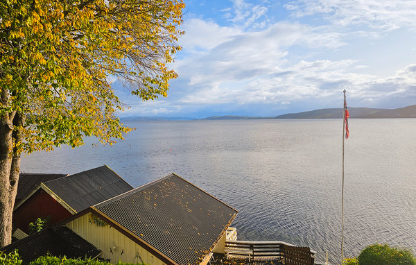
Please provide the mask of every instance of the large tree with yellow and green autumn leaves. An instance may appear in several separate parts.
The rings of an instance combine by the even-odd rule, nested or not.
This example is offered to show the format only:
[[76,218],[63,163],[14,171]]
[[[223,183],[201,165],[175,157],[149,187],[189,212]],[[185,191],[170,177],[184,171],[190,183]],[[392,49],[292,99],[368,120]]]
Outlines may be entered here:
[[10,243],[21,153],[103,144],[131,130],[109,78],[166,96],[182,0],[0,1],[0,247]]

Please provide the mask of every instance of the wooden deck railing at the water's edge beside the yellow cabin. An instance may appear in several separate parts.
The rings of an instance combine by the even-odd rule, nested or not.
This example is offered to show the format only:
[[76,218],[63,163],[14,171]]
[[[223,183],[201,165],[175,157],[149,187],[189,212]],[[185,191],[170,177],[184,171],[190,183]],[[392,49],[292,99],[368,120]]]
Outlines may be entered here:
[[313,265],[315,251],[281,241],[225,241],[225,255],[251,259],[277,259],[285,265]]

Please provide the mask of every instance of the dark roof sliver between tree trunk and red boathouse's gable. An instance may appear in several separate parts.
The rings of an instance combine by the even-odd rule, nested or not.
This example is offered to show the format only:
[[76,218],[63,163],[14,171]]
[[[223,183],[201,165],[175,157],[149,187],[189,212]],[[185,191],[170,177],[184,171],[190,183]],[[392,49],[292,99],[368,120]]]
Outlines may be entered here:
[[33,189],[40,185],[40,182],[55,180],[64,176],[67,176],[67,174],[20,173],[15,204],[26,198]]

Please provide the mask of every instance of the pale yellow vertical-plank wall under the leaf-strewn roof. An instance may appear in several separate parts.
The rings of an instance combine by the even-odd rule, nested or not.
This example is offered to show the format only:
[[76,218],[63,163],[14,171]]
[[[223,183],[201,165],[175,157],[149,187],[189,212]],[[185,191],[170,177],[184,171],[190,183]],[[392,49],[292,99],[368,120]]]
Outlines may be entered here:
[[[94,223],[92,214],[80,216],[80,218],[67,223],[67,227],[103,251],[100,257],[110,259],[112,264],[121,261],[166,265],[147,250],[141,248],[137,243],[125,237],[124,234],[110,227],[110,225],[100,226]],[[122,252],[123,254],[121,254]]]

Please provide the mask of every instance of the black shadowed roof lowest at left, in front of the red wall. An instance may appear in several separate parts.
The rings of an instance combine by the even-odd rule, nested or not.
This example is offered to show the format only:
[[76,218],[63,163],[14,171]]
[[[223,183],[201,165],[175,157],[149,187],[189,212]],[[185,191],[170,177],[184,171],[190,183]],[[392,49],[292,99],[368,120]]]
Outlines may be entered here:
[[65,255],[69,258],[96,257],[101,253],[67,227],[46,228],[1,248],[0,252],[10,253],[15,249],[23,260],[22,264],[29,264],[47,253],[58,257]]

